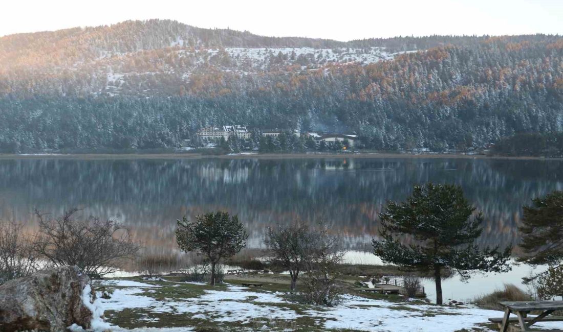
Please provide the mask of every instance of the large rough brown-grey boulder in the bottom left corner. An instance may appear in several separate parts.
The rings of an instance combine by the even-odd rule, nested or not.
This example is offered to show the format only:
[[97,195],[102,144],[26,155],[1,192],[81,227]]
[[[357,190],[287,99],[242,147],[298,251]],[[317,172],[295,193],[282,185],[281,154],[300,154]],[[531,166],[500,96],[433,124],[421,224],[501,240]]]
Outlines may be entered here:
[[8,281],[0,286],[0,331],[66,331],[73,324],[90,328],[92,311],[82,301],[89,282],[77,266]]

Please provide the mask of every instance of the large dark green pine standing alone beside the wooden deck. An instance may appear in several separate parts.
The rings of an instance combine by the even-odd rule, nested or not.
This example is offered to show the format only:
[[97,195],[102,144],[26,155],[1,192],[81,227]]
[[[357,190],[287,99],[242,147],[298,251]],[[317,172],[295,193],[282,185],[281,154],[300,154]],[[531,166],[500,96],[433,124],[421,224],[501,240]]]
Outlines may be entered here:
[[[390,201],[382,212],[381,240],[373,239],[376,256],[410,271],[432,274],[436,282],[436,303],[442,304],[441,276],[457,272],[462,280],[473,271],[502,272],[511,247],[499,251],[480,249],[473,242],[481,235],[482,216],[467,202],[461,187],[447,184],[415,186],[403,203]],[[409,241],[405,244],[404,240]]]

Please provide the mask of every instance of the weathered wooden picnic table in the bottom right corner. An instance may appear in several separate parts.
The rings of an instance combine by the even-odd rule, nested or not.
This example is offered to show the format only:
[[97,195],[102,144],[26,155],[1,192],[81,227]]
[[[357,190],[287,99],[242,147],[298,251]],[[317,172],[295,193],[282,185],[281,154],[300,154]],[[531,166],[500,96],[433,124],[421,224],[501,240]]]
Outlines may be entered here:
[[[504,317],[501,324],[501,332],[507,332],[508,326],[512,322],[518,322],[520,331],[530,331],[530,326],[535,323],[545,321],[563,321],[563,317],[549,317],[547,315],[556,310],[563,310],[563,301],[523,301],[523,302],[499,302],[504,309]],[[531,311],[540,311],[537,317],[526,317]],[[517,321],[510,319],[513,313],[517,317]],[[553,332],[563,330],[551,330]]]

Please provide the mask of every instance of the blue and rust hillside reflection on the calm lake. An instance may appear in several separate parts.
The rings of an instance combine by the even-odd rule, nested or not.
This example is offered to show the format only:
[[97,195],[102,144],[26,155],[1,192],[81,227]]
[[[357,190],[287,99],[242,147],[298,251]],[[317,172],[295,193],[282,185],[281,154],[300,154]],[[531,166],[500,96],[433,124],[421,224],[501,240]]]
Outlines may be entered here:
[[265,226],[327,222],[350,247],[369,248],[377,213],[413,184],[462,185],[485,213],[482,244],[517,238],[520,206],[563,188],[561,161],[356,160],[2,160],[0,215],[28,220],[34,207],[72,206],[132,225],[147,245],[173,247],[175,220],[209,210],[238,213],[251,245]]

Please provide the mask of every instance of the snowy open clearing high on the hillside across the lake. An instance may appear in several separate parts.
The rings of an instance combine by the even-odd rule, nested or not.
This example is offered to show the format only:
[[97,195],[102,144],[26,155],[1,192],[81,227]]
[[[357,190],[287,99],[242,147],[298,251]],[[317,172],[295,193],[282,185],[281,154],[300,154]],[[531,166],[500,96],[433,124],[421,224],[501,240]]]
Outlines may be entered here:
[[[128,66],[138,56],[135,53],[104,52],[98,59],[104,65],[97,76],[106,77],[106,84],[100,87],[115,95],[122,91],[126,80],[137,78],[142,82],[151,79],[153,75],[172,76],[178,83],[189,84],[194,72],[230,72],[248,75],[261,72],[294,72],[295,70],[318,70],[329,65],[346,65],[357,63],[368,65],[383,60],[392,60],[397,54],[416,52],[387,52],[383,47],[368,48],[311,48],[311,47],[283,47],[283,48],[224,48],[224,49],[177,49],[167,48],[161,51],[159,58],[151,58],[146,69],[138,69],[138,65]],[[83,66],[77,65],[75,70]],[[132,69],[132,70],[131,70]]]

